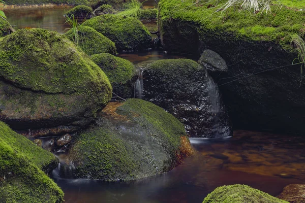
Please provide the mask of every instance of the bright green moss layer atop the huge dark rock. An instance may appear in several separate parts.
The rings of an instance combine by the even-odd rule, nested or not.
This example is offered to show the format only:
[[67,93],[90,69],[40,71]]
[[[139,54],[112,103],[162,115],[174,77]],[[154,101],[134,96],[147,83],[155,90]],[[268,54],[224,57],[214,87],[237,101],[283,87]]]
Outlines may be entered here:
[[160,23],[172,20],[189,22],[197,26],[201,36],[214,36],[226,41],[272,41],[280,43],[287,50],[292,49],[290,36],[305,28],[305,13],[285,6],[272,5],[271,12],[267,14],[239,11],[238,8],[229,8],[223,13],[217,12],[219,5],[223,3],[224,0],[218,4],[213,0],[196,6],[191,0],[161,0]]

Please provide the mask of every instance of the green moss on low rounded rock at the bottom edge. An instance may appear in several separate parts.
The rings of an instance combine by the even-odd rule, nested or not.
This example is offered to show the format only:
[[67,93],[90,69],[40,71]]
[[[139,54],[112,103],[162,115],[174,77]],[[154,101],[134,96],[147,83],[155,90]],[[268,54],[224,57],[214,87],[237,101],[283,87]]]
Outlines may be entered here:
[[216,188],[204,198],[203,203],[287,203],[247,185],[229,185]]

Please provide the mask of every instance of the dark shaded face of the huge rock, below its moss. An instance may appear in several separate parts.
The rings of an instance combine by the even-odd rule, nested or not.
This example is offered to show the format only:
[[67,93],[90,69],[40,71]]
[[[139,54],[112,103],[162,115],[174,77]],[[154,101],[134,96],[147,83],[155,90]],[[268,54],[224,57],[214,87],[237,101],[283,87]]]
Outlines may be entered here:
[[272,42],[232,41],[230,35],[219,39],[192,22],[161,21],[160,26],[166,51],[199,57],[209,49],[224,59],[227,71],[217,73],[210,63],[209,72],[234,128],[305,132],[305,83],[300,82],[300,65],[291,65],[296,54]]

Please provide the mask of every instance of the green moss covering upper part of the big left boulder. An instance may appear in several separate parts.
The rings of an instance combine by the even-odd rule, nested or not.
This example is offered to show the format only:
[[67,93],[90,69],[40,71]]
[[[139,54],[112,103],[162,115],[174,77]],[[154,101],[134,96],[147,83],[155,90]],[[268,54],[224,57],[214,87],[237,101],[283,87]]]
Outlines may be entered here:
[[0,42],[0,50],[0,74],[18,87],[52,94],[111,91],[103,71],[57,32],[20,29]]

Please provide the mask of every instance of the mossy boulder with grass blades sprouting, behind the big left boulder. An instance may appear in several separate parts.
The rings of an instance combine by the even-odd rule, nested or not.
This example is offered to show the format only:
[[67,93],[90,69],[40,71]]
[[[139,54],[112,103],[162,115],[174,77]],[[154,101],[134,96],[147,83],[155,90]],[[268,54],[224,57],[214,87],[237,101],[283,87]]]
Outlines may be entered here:
[[[75,36],[72,30],[65,33],[69,40],[74,41]],[[87,54],[110,53],[116,54],[115,44],[107,37],[92,27],[79,26],[78,27],[78,46]]]

